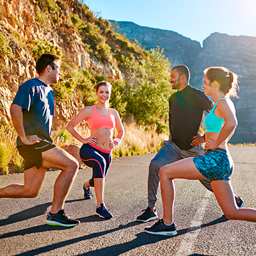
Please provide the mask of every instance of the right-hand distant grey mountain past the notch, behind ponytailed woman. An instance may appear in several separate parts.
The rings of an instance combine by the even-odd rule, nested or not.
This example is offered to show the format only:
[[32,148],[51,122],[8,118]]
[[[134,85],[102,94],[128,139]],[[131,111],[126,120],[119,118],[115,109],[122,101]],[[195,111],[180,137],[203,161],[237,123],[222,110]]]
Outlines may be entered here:
[[239,76],[239,99],[233,99],[239,125],[230,142],[256,141],[256,38],[214,33],[204,40],[191,72],[191,84],[202,86],[202,71],[211,66],[224,66]]

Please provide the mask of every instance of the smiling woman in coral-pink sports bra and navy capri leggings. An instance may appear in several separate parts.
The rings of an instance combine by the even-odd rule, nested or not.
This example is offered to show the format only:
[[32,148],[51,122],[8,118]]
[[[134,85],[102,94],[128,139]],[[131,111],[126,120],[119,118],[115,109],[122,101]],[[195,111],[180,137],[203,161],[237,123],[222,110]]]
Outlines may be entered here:
[[[80,157],[84,164],[93,168],[92,179],[84,183],[84,198],[93,197],[90,187],[95,188],[97,198],[96,214],[100,218],[110,219],[112,214],[104,205],[104,183],[111,165],[112,150],[124,137],[124,126],[122,125],[118,112],[108,107],[111,95],[111,84],[101,81],[97,84],[96,95],[98,102],[94,106],[82,109],[67,125],[67,130],[83,143],[80,149]],[[84,138],[76,130],[76,126],[83,120],[87,121],[91,131],[90,137]],[[113,130],[116,128],[118,134],[113,140]]]

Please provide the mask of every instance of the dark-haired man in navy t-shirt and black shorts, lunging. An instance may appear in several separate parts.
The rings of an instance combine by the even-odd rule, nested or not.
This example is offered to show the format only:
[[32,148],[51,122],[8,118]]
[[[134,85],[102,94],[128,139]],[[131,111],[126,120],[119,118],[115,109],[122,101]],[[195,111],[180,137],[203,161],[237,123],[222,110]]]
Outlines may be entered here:
[[38,78],[21,84],[10,108],[17,131],[17,148],[25,159],[24,185],[0,188],[0,198],[33,198],[38,195],[46,169],[61,170],[54,184],[51,212],[46,224],[73,227],[79,224],[63,210],[65,199],[78,170],[78,163],[65,150],[52,143],[54,100],[51,84],[58,83],[60,57],[42,54],[36,61]]

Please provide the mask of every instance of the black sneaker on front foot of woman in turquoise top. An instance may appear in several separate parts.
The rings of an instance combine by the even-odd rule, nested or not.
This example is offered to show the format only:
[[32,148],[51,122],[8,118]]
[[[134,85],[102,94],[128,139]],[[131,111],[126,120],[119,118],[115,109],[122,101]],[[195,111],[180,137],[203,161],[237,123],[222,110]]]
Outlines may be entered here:
[[157,221],[152,227],[145,228],[145,231],[153,235],[176,236],[177,231],[174,223],[170,226],[164,224],[163,220]]

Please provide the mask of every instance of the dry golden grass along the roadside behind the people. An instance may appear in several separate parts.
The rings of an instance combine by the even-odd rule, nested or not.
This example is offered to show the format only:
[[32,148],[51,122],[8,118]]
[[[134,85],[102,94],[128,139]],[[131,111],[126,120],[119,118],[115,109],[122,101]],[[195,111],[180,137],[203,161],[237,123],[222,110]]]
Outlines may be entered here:
[[[125,136],[122,143],[113,150],[113,157],[157,152],[163,146],[163,141],[168,140],[166,134],[157,134],[156,128],[146,129],[132,123],[124,124],[124,129]],[[86,125],[79,125],[77,130],[84,137],[90,136],[90,131]],[[114,135],[116,136],[116,131]],[[0,126],[0,175],[24,172],[24,160],[16,148],[16,138],[17,133],[12,125]],[[52,131],[52,140],[59,147],[70,144],[76,144],[80,147],[82,145],[65,129]]]

